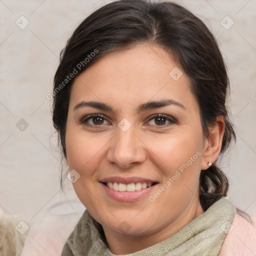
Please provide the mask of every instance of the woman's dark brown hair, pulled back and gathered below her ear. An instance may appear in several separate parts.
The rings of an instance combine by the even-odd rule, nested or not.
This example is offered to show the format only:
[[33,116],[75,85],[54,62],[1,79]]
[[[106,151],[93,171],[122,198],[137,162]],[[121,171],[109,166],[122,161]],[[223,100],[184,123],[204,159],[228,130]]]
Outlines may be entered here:
[[[216,117],[223,116],[222,154],[235,139],[235,133],[226,108],[227,71],[214,36],[199,18],[176,3],[120,0],[100,7],[85,18],[60,53],[54,76],[52,120],[63,155],[66,156],[65,127],[70,89],[75,78],[70,79],[70,74],[77,75],[110,51],[138,43],[162,47],[180,63],[190,78],[191,90],[199,104],[205,136]],[[201,170],[200,203],[203,210],[226,196],[227,190],[227,178],[216,163]]]

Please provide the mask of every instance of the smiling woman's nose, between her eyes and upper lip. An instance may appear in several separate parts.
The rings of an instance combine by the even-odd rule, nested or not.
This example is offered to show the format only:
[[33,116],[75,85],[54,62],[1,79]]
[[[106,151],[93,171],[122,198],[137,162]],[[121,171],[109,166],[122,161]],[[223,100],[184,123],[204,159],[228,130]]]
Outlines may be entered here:
[[127,169],[145,160],[144,144],[134,131],[132,126],[126,131],[116,127],[116,134],[111,139],[107,151],[108,162]]

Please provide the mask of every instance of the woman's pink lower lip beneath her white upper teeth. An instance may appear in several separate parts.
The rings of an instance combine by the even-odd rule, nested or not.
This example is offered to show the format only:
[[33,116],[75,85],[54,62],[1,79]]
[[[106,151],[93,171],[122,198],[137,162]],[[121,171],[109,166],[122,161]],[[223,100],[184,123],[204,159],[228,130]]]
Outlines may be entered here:
[[142,188],[140,190],[135,190],[132,192],[127,192],[127,191],[116,191],[112,188],[109,188],[108,186],[104,185],[102,182],[100,182],[103,188],[105,189],[105,192],[107,193],[108,196],[111,198],[117,200],[117,201],[136,201],[144,196],[146,196],[156,184],[149,186],[147,188]]

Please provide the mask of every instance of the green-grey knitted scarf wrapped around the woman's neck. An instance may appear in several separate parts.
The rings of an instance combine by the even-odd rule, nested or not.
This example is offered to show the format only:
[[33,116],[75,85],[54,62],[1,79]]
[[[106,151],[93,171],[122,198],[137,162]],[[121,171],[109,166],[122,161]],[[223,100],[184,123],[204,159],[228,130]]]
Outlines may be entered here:
[[[216,256],[231,226],[235,211],[230,200],[222,197],[169,238],[127,256]],[[87,210],[70,234],[61,253],[61,256],[85,255],[115,256],[102,240],[97,222]]]

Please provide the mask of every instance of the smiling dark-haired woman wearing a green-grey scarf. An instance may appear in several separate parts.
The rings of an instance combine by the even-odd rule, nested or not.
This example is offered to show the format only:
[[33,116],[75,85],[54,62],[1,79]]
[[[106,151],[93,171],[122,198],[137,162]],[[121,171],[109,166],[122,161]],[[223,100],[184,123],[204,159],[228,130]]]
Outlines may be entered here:
[[217,163],[235,138],[228,89],[214,36],[175,3],[121,0],[82,21],[52,93],[86,207],[61,255],[254,255]]

